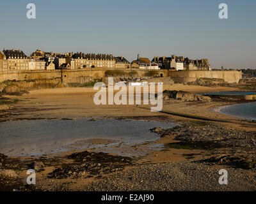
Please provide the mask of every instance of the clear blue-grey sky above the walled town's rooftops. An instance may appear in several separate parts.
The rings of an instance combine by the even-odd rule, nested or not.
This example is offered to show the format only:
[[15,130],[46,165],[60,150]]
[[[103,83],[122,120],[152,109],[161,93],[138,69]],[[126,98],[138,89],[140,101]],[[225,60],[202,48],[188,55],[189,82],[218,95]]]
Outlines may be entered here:
[[[36,19],[26,5],[36,4]],[[218,5],[228,5],[228,19]],[[212,68],[256,67],[255,0],[1,0],[0,49],[209,58]]]

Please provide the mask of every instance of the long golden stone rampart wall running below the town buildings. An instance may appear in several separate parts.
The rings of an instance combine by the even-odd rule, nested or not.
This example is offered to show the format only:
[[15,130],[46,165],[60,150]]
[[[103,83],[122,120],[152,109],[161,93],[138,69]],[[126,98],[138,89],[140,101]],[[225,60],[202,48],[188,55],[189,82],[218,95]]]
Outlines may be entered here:
[[[108,70],[108,71],[107,71]],[[136,75],[134,77],[179,77],[182,82],[193,82],[197,78],[223,78],[228,83],[238,83],[242,78],[241,71],[170,71],[162,70],[140,70],[140,69],[108,69],[108,68],[85,68],[85,69],[64,69],[64,70],[44,70],[44,71],[0,71],[0,82],[6,80],[42,80],[60,78],[63,84],[68,82],[88,81],[88,77],[105,79],[106,77],[124,77]],[[84,78],[85,77],[85,78]]]

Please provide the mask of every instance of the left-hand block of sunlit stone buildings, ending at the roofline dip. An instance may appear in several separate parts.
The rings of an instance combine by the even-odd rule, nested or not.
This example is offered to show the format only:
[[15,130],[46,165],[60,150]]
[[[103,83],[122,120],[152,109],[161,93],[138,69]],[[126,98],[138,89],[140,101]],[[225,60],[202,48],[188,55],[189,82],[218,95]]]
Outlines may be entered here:
[[55,54],[36,50],[29,57],[22,50],[3,50],[0,52],[0,71],[52,70],[83,68],[130,68],[125,57],[108,54],[65,53]]

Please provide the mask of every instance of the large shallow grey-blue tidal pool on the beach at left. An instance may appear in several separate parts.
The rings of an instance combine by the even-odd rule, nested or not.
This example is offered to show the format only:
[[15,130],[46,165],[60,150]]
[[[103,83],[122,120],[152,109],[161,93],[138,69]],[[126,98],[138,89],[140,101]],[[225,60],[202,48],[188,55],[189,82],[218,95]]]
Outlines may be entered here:
[[[40,156],[67,150],[96,149],[138,155],[131,147],[159,136],[149,129],[173,123],[144,120],[19,120],[0,123],[0,152],[8,156]],[[157,145],[149,149],[159,148]],[[141,149],[147,154],[147,148]],[[143,155],[143,154],[140,155]]]

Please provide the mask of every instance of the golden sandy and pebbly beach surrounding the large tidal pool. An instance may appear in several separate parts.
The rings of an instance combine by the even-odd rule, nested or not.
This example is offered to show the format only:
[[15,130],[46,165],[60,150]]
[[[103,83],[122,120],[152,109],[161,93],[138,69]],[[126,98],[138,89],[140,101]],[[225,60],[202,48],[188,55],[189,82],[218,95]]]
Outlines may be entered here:
[[[237,91],[234,87],[183,84],[168,85],[163,88],[166,89],[193,93]],[[19,191],[253,191],[256,189],[256,171],[253,168],[255,123],[213,111],[219,106],[236,104],[236,101],[213,100],[202,103],[168,99],[163,102],[162,112],[150,112],[150,105],[97,106],[93,103],[95,92],[92,87],[77,87],[39,89],[29,91],[29,94],[22,96],[6,96],[19,101],[2,108],[0,120],[1,122],[143,120],[169,122],[179,128],[173,129],[173,126],[170,126],[160,129],[155,132],[156,140],[134,144],[126,149],[125,145],[117,144],[119,147],[116,148],[123,152],[122,156],[115,153],[115,147],[111,147],[114,153],[110,154],[100,153],[100,150],[104,151],[104,147],[100,147],[102,149],[71,148],[40,156],[24,155],[2,159],[3,166],[15,173],[15,177],[10,176],[10,181],[13,178],[22,178],[18,179],[19,181],[16,179],[13,183],[5,183],[4,186],[2,185],[3,189],[11,191],[13,189]],[[191,137],[188,137],[189,135]],[[231,142],[226,142],[227,140]],[[94,138],[89,142],[92,146],[95,144],[108,146],[109,143],[113,143],[102,138]],[[150,145],[161,148],[146,148]],[[138,155],[129,156],[128,153],[131,151],[138,152]],[[38,168],[35,186],[24,184],[27,166]],[[220,177],[218,170],[222,168],[230,173],[229,186],[218,184]],[[170,178],[173,182],[168,180]],[[6,180],[1,182],[3,184]]]

